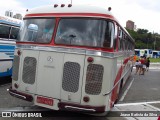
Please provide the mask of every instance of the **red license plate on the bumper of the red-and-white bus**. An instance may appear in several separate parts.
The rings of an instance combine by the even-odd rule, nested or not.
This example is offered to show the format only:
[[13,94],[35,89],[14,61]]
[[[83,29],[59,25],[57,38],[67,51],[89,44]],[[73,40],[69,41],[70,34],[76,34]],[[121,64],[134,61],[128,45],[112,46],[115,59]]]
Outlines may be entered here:
[[53,99],[37,96],[37,103],[53,106]]

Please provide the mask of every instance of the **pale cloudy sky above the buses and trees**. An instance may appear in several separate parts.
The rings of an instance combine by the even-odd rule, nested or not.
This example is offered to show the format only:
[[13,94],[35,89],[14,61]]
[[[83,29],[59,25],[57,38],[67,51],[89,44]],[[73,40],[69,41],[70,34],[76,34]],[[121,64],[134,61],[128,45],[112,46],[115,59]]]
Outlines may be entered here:
[[[3,0],[0,15],[4,15],[6,10],[25,15],[26,9],[61,3],[68,4],[71,0]],[[127,20],[132,20],[137,28],[160,34],[160,0],[72,0],[72,4],[97,5],[106,9],[111,7],[112,14],[123,27]]]

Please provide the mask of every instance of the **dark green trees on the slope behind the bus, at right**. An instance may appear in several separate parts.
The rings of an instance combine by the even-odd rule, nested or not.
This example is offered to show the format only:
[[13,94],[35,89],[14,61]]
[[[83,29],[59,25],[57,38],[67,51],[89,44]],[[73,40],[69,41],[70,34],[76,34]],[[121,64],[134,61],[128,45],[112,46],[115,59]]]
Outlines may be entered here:
[[160,50],[160,35],[148,32],[147,29],[137,31],[127,29],[129,34],[135,39],[135,49],[156,49]]

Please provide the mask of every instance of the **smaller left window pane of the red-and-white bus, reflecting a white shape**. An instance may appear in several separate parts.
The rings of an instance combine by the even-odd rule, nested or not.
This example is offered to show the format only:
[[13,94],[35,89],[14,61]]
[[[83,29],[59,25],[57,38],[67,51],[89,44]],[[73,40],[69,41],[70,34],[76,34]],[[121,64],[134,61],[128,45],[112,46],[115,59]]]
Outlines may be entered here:
[[49,43],[54,30],[54,18],[25,19],[20,30],[19,41]]

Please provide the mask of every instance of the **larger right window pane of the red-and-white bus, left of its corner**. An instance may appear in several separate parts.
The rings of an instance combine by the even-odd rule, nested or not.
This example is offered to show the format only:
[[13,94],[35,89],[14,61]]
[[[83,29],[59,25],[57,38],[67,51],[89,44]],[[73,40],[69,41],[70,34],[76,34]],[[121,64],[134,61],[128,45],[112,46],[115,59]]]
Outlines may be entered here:
[[62,18],[55,43],[64,45],[112,47],[114,25],[103,19]]

